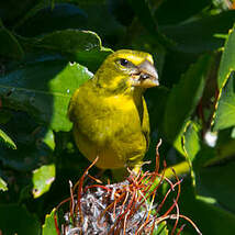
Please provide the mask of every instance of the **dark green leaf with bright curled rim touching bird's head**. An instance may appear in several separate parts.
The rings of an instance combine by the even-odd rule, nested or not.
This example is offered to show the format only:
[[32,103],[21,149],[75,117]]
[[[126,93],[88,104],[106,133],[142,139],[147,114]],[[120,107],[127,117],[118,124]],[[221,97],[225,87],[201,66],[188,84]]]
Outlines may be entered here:
[[93,71],[96,71],[104,58],[112,53],[111,49],[102,46],[100,37],[91,31],[71,29],[55,31],[40,38],[35,38],[35,42],[26,40],[24,43],[32,44],[33,47],[41,51],[46,49],[66,55],[70,60],[92,68]]

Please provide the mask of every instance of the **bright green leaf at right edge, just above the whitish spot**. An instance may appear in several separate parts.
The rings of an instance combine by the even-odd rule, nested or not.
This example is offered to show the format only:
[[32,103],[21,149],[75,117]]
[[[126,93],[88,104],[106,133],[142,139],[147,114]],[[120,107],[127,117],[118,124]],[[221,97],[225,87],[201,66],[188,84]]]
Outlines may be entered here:
[[[235,44],[234,44],[235,45]],[[232,72],[222,88],[214,116],[214,131],[235,126],[235,72]]]

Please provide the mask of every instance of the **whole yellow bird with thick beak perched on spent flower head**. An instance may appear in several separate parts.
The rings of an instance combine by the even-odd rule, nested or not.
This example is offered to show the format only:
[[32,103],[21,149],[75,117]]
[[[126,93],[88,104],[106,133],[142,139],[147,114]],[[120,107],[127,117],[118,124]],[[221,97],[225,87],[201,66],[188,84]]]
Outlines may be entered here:
[[68,116],[79,150],[102,169],[137,171],[149,143],[146,88],[158,86],[152,55],[121,49],[71,97]]

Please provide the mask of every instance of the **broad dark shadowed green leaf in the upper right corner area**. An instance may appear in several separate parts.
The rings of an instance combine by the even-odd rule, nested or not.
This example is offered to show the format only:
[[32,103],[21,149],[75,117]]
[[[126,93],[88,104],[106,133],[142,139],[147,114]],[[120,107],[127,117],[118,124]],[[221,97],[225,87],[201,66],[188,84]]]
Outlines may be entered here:
[[174,41],[175,49],[201,54],[224,45],[221,34],[227,34],[235,21],[235,11],[226,11],[178,25],[161,26],[160,32]]

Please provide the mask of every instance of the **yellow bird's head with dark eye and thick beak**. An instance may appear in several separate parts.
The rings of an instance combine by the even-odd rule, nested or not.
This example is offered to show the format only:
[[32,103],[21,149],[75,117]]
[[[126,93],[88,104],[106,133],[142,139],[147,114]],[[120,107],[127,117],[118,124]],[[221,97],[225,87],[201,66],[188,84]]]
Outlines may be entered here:
[[131,49],[121,49],[109,55],[96,77],[101,87],[112,92],[159,85],[152,55]]

